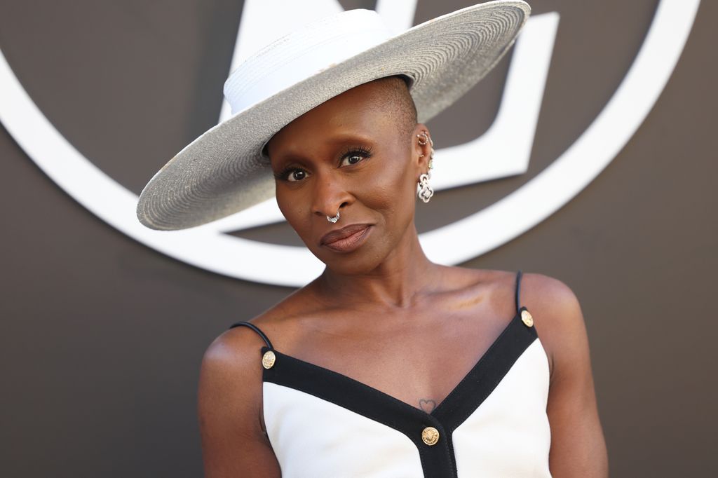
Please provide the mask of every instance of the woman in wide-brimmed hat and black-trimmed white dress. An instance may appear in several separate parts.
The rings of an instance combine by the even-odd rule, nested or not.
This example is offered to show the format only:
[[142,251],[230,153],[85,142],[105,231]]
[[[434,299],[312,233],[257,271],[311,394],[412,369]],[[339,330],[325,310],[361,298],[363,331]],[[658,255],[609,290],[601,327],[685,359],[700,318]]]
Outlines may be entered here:
[[[286,80],[250,59],[247,71],[284,83],[264,91],[264,103],[250,101],[258,105],[254,113],[234,108],[241,111],[234,126],[205,133],[204,145],[195,141],[183,150],[143,191],[138,211],[146,225],[185,228],[261,200],[257,171],[264,167],[289,225],[326,265],[264,314],[233,324],[205,352],[198,397],[205,476],[607,475],[586,331],[572,291],[538,273],[439,266],[424,255],[414,225],[416,196],[432,196],[434,150],[425,118],[485,75],[526,14],[520,1],[463,9],[415,27],[409,39],[344,52],[349,60],[319,73],[312,67],[303,80]],[[368,32],[358,23],[370,15],[346,12],[304,29],[301,42],[290,36],[258,55],[281,65],[276,50],[289,44],[286,60],[294,60],[297,44],[331,43],[322,29]],[[444,55],[440,72],[411,69],[421,57],[408,54],[406,42],[440,49],[437,32],[455,31],[444,47],[465,44],[461,35],[470,38],[502,15],[515,17],[514,24],[503,22],[503,34],[482,37],[491,51],[467,47]],[[317,38],[307,37],[314,32]],[[298,57],[300,67],[311,61]],[[405,63],[396,67],[399,57]],[[342,75],[347,61],[364,67],[350,65]],[[380,67],[348,80],[371,65]],[[325,71],[333,73],[317,80]],[[233,72],[225,85],[230,100],[266,87],[259,79],[248,85],[241,74]],[[307,81],[304,90],[297,86]],[[243,93],[233,95],[238,84]],[[299,93],[313,94],[317,85],[325,96],[297,105]],[[252,114],[274,124],[248,131]],[[249,146],[240,154],[233,141],[252,144],[268,161],[238,159]],[[227,170],[216,166],[218,156],[238,164],[231,181],[217,179]],[[195,161],[215,166],[192,172]],[[200,193],[176,199],[197,184]],[[164,208],[153,211],[152,195]]]

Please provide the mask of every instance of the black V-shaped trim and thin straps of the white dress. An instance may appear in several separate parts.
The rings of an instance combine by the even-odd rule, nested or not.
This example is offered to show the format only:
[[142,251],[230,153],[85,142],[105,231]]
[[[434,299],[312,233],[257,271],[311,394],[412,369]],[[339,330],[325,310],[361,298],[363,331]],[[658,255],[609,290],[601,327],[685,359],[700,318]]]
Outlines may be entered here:
[[[456,478],[457,464],[452,444],[454,430],[481,406],[516,360],[538,338],[536,328],[526,326],[521,320],[521,311],[527,310],[525,306],[520,306],[521,275],[521,271],[516,274],[516,315],[432,413],[426,413],[347,375],[278,352],[264,332],[254,324],[236,322],[230,328],[240,325],[250,327],[266,343],[261,354],[264,355],[268,350],[274,352],[274,365],[262,372],[264,382],[308,393],[394,428],[416,445],[425,477]],[[433,426],[439,431],[439,441],[433,446],[421,440],[421,431],[427,426]]]

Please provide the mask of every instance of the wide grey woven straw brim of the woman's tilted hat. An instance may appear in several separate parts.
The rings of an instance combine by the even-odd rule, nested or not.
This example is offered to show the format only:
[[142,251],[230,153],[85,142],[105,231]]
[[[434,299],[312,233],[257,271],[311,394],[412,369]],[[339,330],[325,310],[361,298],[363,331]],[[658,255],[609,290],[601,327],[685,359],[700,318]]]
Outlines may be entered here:
[[378,78],[411,78],[418,120],[429,121],[480,81],[525,24],[523,1],[490,1],[419,24],[281,90],[210,128],[144,187],[137,217],[148,228],[203,225],[274,196],[261,149],[286,124],[346,90]]

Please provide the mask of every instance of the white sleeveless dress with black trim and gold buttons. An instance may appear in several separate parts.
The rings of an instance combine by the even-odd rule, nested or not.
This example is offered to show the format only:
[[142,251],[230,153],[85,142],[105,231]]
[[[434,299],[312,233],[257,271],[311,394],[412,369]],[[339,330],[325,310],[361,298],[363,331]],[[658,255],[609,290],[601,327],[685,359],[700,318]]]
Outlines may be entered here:
[[431,413],[233,324],[266,342],[264,422],[282,477],[551,477],[549,362],[520,282],[516,316]]

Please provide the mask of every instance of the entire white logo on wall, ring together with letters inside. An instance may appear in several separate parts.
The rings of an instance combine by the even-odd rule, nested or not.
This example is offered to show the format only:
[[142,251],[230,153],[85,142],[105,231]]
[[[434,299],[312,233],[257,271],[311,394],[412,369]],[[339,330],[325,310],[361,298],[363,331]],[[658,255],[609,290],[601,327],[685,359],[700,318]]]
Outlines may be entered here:
[[[342,9],[337,0],[283,0],[284,14],[276,16],[276,3],[244,2],[233,65],[297,24]],[[549,217],[597,177],[656,103],[681,56],[699,4],[700,0],[661,0],[628,74],[582,136],[510,195],[462,220],[421,234],[421,245],[429,258],[456,264],[480,256]],[[379,0],[376,6],[396,32],[411,26],[415,9],[416,0]],[[437,151],[441,161],[434,169],[434,189],[526,172],[558,24],[556,13],[529,19],[516,42],[493,125],[477,139]],[[274,29],[269,31],[267,25]],[[227,115],[225,105],[222,118]],[[322,263],[306,248],[227,234],[282,220],[274,200],[190,230],[144,228],[135,215],[136,195],[98,169],[52,126],[1,52],[0,121],[65,192],[114,228],[168,256],[226,276],[286,286],[303,285],[322,271]],[[475,162],[477,157],[497,156],[503,160]],[[467,171],[472,174],[467,175]],[[449,240],[452,247],[442,247]]]

